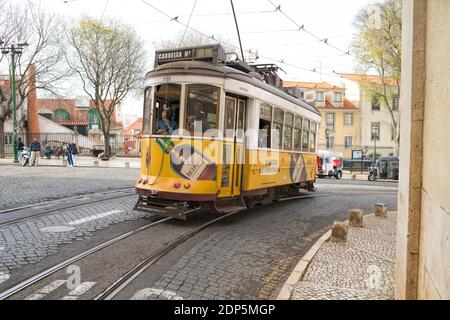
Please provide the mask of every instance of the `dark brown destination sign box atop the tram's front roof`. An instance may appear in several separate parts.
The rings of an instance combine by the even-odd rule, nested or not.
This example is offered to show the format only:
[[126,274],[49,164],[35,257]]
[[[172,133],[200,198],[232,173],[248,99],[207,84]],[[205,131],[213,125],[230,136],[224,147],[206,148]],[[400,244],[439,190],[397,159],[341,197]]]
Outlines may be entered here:
[[225,51],[219,44],[174,50],[158,50],[155,54],[155,67],[174,61],[192,60],[216,64],[219,61],[225,61]]

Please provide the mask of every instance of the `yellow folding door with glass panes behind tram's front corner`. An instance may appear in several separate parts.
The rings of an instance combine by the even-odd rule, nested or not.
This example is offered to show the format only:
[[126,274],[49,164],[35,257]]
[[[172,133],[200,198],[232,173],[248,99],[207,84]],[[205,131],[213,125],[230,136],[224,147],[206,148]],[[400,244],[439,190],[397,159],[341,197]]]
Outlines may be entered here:
[[226,97],[220,197],[241,194],[242,168],[245,159],[245,111],[245,100]]

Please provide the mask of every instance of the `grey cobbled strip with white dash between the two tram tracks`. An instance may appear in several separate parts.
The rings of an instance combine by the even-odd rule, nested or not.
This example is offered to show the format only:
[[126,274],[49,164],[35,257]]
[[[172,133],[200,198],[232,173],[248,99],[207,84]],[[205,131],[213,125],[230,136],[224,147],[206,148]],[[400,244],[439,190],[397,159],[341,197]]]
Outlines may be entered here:
[[[0,227],[0,273],[39,262],[57,253],[61,245],[87,240],[93,232],[112,224],[141,218],[142,213],[132,210],[135,202],[135,197],[108,200]],[[111,212],[113,213],[109,214]],[[101,215],[102,213],[107,214]],[[100,218],[96,219],[97,217]],[[42,230],[52,226],[70,226],[73,230],[68,232]]]

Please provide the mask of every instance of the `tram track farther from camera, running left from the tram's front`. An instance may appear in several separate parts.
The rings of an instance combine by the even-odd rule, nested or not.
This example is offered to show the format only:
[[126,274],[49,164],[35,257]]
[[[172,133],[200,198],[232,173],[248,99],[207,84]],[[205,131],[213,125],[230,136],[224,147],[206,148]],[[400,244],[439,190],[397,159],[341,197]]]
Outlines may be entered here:
[[11,219],[9,221],[5,221],[5,222],[0,222],[0,228],[8,226],[8,225],[12,225],[12,224],[16,224],[16,223],[20,223],[20,222],[25,222],[28,220],[32,220],[35,218],[39,218],[42,216],[45,216],[47,214],[50,213],[55,213],[55,212],[59,212],[59,211],[64,211],[67,209],[72,209],[72,208],[77,208],[77,207],[82,207],[82,206],[86,206],[86,205],[90,205],[90,204],[94,204],[94,203],[99,203],[99,202],[104,202],[104,201],[110,201],[110,200],[115,200],[115,199],[120,199],[120,198],[126,198],[126,197],[132,197],[132,196],[136,196],[136,194],[133,192],[127,193],[127,194],[122,194],[122,195],[118,195],[118,193],[120,192],[126,192],[126,191],[132,191],[134,190],[134,188],[124,188],[124,189],[116,189],[116,190],[111,190],[111,191],[104,191],[104,192],[96,192],[96,193],[89,193],[89,194],[85,194],[85,195],[79,195],[79,196],[75,196],[75,197],[71,197],[71,198],[64,198],[64,199],[58,199],[58,200],[52,200],[52,201],[45,201],[45,202],[39,202],[36,204],[32,204],[32,205],[26,205],[26,206],[21,206],[21,207],[16,207],[16,208],[10,208],[7,210],[2,210],[0,211],[0,215],[1,214],[13,214],[14,212],[19,212],[21,210],[27,210],[27,209],[39,209],[43,206],[51,206],[54,204],[58,204],[61,202],[70,202],[70,201],[74,201],[74,200],[78,200],[78,199],[83,199],[86,197],[93,197],[96,195],[109,195],[109,194],[114,194],[114,196],[111,197],[101,197],[99,199],[93,199],[93,200],[89,200],[89,201],[84,201],[84,202],[80,202],[80,203],[76,203],[76,204],[70,204],[70,205],[65,205],[65,206],[61,206],[61,207],[54,207],[51,209],[47,209],[47,210],[43,210],[43,211],[39,211],[36,213],[32,213],[30,215],[27,215],[25,217],[20,217],[17,219]]

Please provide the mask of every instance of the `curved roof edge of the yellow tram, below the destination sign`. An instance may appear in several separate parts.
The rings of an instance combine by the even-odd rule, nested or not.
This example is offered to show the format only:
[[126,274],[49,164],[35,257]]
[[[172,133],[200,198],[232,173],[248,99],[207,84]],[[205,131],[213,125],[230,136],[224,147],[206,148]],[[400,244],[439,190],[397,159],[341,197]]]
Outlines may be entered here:
[[286,99],[299,107],[305,108],[311,112],[320,115],[320,111],[306,102],[299,100],[281,89],[271,86],[263,81],[253,77],[251,74],[242,72],[235,68],[226,65],[211,64],[202,61],[176,61],[160,65],[148,72],[146,78],[153,78],[165,74],[183,74],[183,75],[200,75],[200,76],[212,76],[230,78],[247,82],[255,87],[268,91],[274,95],[277,95],[283,99]]

